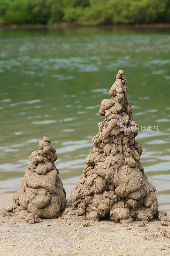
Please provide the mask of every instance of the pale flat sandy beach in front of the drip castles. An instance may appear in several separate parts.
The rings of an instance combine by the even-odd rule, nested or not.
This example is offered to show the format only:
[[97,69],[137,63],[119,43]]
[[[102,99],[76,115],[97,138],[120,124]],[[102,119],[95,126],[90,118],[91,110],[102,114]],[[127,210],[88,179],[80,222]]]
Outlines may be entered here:
[[[12,205],[11,195],[0,195],[0,209]],[[4,223],[3,223],[4,222]],[[159,220],[145,226],[114,221],[42,219],[29,224],[16,215],[0,217],[1,256],[91,255],[152,256],[170,254],[170,228]]]

